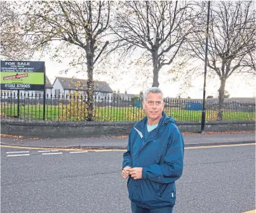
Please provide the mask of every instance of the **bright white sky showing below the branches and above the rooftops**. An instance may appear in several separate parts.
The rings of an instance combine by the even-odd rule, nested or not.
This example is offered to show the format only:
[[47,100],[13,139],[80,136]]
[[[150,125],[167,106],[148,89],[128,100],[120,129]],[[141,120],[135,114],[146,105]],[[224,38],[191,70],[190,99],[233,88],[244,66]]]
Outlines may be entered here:
[[[46,63],[46,75],[48,75],[51,83],[53,84],[55,77],[76,77],[77,79],[86,79],[87,72],[80,72],[76,74],[76,70],[73,69],[67,74],[60,74],[61,70],[65,70],[69,67],[68,63],[57,63],[56,61],[50,60],[47,56],[41,58],[41,61],[45,61]],[[64,60],[65,61],[65,60]],[[203,67],[202,67],[203,68]],[[106,67],[106,69],[108,69]],[[168,67],[165,67],[168,69]],[[141,90],[145,91],[146,87],[150,87],[152,84],[152,79],[149,79],[147,85],[142,85],[140,81],[140,77],[135,77],[135,70],[130,69],[128,70],[129,73],[126,74],[119,74],[118,81],[111,78],[111,76],[107,75],[93,75],[94,80],[98,81],[106,81],[111,86],[112,90],[120,91],[120,93],[127,93],[138,94]],[[109,72],[110,73],[110,72]],[[190,96],[191,98],[203,98],[203,76],[194,79],[192,85],[194,87],[190,88],[188,91],[187,89],[182,89],[183,82],[166,82],[166,79],[170,78],[170,76],[159,73],[159,88],[163,90],[163,93],[166,96],[175,98],[180,93],[182,93],[182,98],[187,98]],[[135,84],[133,86],[133,84]],[[231,97],[253,97],[255,96],[255,81],[248,80],[247,81],[241,77],[231,77],[227,80],[226,90],[229,91]],[[206,96],[213,95],[217,97],[218,93],[217,90],[219,89],[219,80],[215,79],[208,79],[206,82]]]

